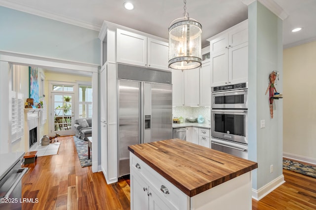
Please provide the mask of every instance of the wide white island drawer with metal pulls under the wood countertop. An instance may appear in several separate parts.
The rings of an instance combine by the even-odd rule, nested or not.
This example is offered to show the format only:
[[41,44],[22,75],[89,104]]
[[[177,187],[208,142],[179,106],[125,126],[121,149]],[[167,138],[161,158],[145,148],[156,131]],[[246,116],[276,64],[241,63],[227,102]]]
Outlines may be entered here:
[[[186,210],[189,208],[190,199],[186,194],[132,153],[130,153],[130,164],[131,173],[137,173],[144,178],[145,182],[148,180],[148,186],[170,209]],[[169,193],[163,193],[163,189],[168,190]]]

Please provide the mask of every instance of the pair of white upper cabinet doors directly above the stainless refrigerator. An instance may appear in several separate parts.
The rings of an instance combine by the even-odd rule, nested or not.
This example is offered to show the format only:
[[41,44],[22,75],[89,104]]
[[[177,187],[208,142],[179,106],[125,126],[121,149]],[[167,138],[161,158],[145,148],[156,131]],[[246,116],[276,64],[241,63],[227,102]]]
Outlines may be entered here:
[[169,47],[144,35],[117,29],[117,62],[168,70]]

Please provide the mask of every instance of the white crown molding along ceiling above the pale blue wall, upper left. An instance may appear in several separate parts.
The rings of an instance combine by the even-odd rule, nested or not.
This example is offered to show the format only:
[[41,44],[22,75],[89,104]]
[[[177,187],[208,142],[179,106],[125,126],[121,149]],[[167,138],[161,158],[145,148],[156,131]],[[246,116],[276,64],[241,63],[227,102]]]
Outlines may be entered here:
[[100,25],[90,24],[90,23],[87,23],[84,21],[80,21],[80,20],[76,20],[76,19],[73,19],[73,18],[70,18],[67,16],[63,16],[63,15],[60,15],[57,13],[39,10],[37,8],[31,7],[28,5],[24,5],[24,4],[8,2],[6,0],[0,0],[0,6],[4,6],[4,7],[18,10],[21,12],[26,12],[26,13],[37,15],[40,17],[56,20],[59,22],[68,23],[71,25],[79,26],[79,27],[90,29],[90,30],[97,31],[97,32],[99,32],[101,29]]

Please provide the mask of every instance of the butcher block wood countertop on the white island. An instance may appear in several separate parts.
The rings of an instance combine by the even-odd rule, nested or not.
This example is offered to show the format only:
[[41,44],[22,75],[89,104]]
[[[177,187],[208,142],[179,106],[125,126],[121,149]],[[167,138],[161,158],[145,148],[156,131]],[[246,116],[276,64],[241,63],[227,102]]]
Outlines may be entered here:
[[128,150],[189,197],[258,168],[258,164],[179,139],[128,146]]

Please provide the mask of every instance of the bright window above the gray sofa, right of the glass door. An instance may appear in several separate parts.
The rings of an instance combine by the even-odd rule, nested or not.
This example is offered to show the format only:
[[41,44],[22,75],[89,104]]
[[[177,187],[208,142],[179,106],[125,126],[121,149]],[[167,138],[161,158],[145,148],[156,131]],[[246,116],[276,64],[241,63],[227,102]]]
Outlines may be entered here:
[[79,85],[79,118],[92,117],[92,87]]

